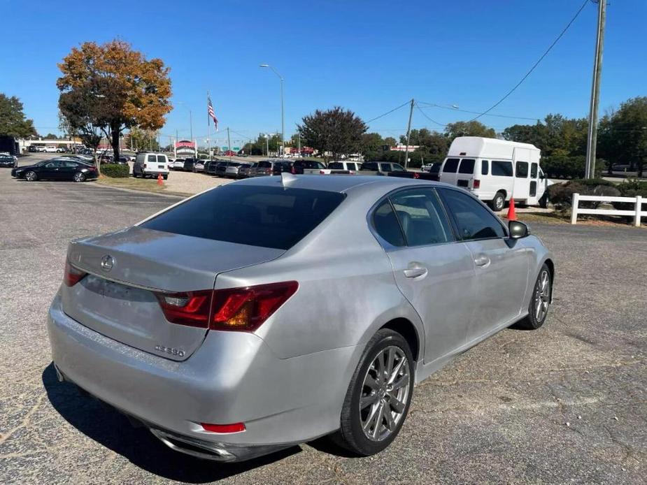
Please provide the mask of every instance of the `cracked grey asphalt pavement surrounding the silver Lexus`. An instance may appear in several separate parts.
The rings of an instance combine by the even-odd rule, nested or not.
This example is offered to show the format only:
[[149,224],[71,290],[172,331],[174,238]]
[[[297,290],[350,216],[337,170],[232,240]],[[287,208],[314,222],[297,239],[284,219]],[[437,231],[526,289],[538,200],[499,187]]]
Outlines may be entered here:
[[556,258],[546,324],[502,331],[417,386],[382,454],[349,458],[319,440],[221,465],[167,449],[57,382],[45,330],[69,240],[178,199],[9,172],[0,169],[0,483],[645,483],[644,229],[535,226]]

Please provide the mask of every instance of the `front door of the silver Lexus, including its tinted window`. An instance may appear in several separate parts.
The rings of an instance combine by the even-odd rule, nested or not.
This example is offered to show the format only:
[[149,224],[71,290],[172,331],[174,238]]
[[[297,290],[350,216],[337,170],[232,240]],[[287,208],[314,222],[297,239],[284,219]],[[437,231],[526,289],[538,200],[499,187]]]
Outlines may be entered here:
[[529,249],[509,240],[499,218],[469,194],[441,188],[456,233],[467,244],[476,271],[474,319],[467,341],[497,326],[512,324],[522,311],[528,282]]

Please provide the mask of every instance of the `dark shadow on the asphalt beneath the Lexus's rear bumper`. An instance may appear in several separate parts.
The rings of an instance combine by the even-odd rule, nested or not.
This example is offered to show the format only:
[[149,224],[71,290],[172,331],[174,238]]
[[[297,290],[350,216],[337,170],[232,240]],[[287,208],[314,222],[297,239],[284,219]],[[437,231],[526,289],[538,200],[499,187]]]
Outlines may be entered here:
[[173,451],[146,428],[134,428],[115,408],[86,396],[70,382],[59,382],[54,364],[43,370],[43,385],[54,409],[81,433],[160,477],[179,482],[213,482],[268,465],[301,451],[298,446],[242,463],[218,463]]

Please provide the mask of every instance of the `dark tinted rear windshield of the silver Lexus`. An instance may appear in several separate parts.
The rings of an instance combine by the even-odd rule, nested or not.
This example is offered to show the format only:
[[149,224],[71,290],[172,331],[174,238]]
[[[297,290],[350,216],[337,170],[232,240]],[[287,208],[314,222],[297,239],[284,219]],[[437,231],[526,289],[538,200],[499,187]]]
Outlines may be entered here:
[[341,203],[338,192],[229,184],[141,224],[146,229],[290,249]]

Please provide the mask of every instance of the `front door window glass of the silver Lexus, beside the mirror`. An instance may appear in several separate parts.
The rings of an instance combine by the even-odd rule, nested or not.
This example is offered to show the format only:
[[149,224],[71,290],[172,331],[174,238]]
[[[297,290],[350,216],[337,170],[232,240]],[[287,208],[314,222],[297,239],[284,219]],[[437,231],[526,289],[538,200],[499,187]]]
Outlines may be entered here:
[[457,190],[440,189],[443,201],[454,216],[462,240],[504,238],[506,233],[495,215],[471,196]]

